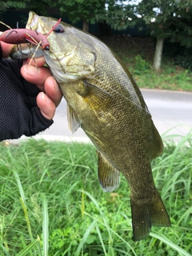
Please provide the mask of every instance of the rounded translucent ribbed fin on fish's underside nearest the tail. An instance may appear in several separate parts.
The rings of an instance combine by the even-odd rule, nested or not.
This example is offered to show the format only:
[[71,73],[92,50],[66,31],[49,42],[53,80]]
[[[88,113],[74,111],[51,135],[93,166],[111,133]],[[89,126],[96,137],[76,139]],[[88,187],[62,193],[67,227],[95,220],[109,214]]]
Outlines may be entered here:
[[98,180],[105,192],[112,192],[120,183],[119,171],[98,152]]

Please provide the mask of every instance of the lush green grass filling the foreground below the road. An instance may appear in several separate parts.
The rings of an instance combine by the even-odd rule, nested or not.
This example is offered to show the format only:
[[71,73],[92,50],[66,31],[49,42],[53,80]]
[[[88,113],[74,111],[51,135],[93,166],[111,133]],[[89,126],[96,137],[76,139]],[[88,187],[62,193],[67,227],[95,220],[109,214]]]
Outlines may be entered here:
[[154,226],[141,242],[132,241],[127,182],[122,177],[114,193],[102,191],[94,146],[0,144],[0,255],[190,256],[191,139],[175,146],[166,138],[164,154],[152,162],[172,226]]

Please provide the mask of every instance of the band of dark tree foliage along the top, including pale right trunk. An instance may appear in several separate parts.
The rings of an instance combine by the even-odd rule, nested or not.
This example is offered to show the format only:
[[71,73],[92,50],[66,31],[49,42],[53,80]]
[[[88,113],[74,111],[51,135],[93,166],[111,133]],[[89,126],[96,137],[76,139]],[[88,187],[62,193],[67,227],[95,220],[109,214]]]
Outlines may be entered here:
[[[177,42],[187,49],[192,46],[190,0],[22,0],[0,1],[1,12],[10,9],[34,10],[38,14],[57,13],[66,15],[71,22],[82,20],[83,29],[89,30],[89,23],[102,22],[116,30],[127,27],[144,28],[156,38],[154,70],[161,70],[164,39]],[[0,14],[1,14],[0,12]]]

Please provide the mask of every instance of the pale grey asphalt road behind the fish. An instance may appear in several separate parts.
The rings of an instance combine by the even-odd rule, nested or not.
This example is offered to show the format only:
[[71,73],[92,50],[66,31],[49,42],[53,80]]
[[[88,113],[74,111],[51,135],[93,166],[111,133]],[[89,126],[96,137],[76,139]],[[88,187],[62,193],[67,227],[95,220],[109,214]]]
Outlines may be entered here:
[[[169,90],[142,90],[146,105],[153,117],[154,124],[161,135],[185,135],[192,130],[192,93]],[[169,130],[169,132],[167,132]],[[88,138],[82,129],[71,134],[66,118],[66,102],[63,99],[54,117],[54,124],[36,138],[49,140],[80,140]]]

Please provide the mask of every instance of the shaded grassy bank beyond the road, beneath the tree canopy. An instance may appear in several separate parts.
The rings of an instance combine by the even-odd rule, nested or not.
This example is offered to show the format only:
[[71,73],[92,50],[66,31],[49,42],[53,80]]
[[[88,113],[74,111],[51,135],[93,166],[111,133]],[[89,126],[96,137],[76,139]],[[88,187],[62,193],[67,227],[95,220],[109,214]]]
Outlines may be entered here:
[[174,65],[174,59],[166,54],[162,58],[162,71],[154,72],[154,39],[111,36],[101,40],[118,54],[139,87],[192,91],[192,72]]

